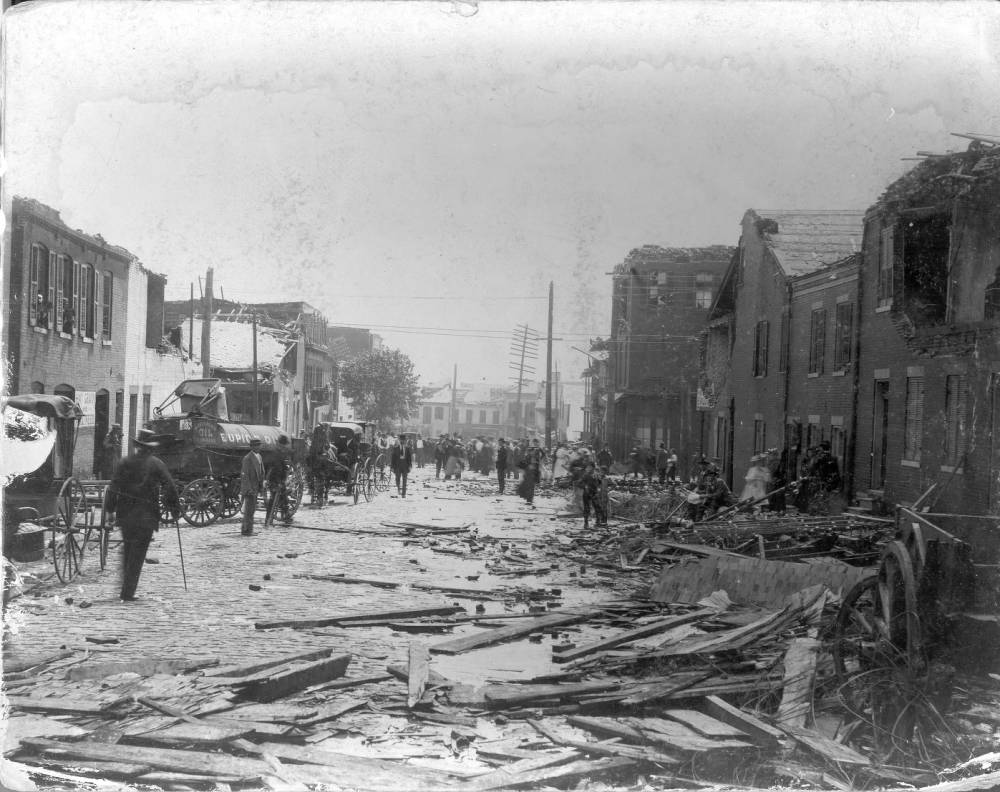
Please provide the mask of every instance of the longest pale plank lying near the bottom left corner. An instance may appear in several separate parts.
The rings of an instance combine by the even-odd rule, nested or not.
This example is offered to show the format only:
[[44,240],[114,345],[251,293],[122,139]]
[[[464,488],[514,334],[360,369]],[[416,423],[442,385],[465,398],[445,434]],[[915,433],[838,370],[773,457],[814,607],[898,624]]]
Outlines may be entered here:
[[107,745],[88,740],[59,742],[58,740],[31,739],[24,741],[23,744],[46,754],[59,753],[76,759],[143,764],[154,769],[198,775],[225,775],[241,779],[255,779],[261,775],[272,773],[267,762],[260,759],[237,758],[227,754],[207,753],[205,751],[143,748],[136,745]]

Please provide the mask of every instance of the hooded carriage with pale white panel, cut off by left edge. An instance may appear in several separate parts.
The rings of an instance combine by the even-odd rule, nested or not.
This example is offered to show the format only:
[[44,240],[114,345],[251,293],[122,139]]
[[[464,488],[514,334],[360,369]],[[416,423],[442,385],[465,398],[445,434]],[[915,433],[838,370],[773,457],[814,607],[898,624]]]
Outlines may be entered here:
[[83,411],[66,396],[20,394],[5,400],[4,412],[4,467],[12,475],[4,492],[4,555],[27,561],[48,552],[59,580],[68,583],[84,551],[96,545],[103,569],[106,482],[73,475]]

